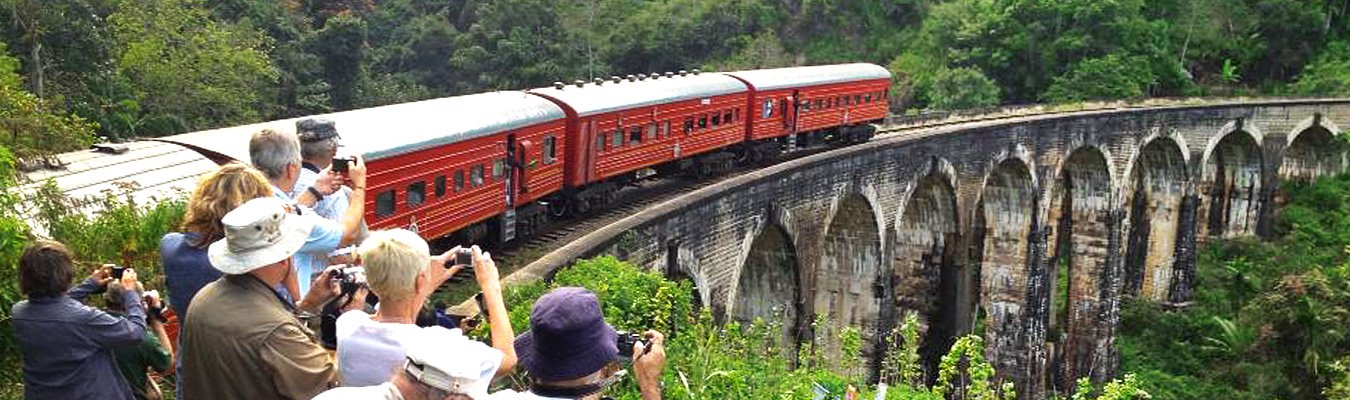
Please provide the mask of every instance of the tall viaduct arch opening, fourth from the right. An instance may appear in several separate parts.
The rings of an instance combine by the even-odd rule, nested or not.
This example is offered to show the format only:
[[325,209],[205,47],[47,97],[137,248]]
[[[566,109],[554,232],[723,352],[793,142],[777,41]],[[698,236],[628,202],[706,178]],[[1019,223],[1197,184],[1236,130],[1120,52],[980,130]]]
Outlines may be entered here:
[[1094,366],[1094,353],[1096,331],[1107,328],[1100,326],[1099,315],[1107,307],[1102,291],[1111,261],[1111,232],[1118,224],[1111,212],[1115,185],[1108,159],[1099,147],[1075,149],[1064,158],[1048,201],[1046,384],[1060,393],[1094,368],[1104,368]]

